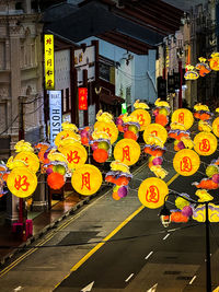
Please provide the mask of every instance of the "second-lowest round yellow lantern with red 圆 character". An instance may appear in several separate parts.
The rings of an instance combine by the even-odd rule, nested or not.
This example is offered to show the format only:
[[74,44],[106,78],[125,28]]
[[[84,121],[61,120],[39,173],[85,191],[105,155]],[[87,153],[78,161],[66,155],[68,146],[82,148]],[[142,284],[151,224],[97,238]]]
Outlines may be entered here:
[[173,159],[173,167],[176,173],[189,176],[197,172],[200,165],[198,154],[191,149],[180,150]]

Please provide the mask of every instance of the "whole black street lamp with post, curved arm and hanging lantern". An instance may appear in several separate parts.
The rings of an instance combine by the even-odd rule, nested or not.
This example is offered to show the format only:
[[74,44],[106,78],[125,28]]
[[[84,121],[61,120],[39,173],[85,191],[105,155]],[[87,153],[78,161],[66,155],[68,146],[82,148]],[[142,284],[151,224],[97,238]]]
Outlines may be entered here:
[[[160,219],[164,227],[168,227],[171,223],[171,212],[165,206],[165,201],[169,198],[169,196],[175,196],[175,197],[181,197],[185,199],[186,201],[191,203],[200,203],[198,201],[195,201],[193,199],[188,199],[187,197],[184,197],[180,194],[168,194],[164,197],[164,206],[163,209],[160,212]],[[206,291],[211,292],[211,272],[210,272],[210,235],[209,235],[209,218],[208,218],[208,205],[210,201],[205,201],[205,210],[206,210],[206,221],[205,221],[205,226],[206,226]]]

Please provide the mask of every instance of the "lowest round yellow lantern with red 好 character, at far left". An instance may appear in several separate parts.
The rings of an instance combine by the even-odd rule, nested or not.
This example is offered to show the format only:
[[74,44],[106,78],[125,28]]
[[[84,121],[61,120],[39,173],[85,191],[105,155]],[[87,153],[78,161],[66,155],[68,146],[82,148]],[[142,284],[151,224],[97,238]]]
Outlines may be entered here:
[[27,167],[16,167],[7,178],[9,190],[19,198],[31,196],[37,186],[37,177]]

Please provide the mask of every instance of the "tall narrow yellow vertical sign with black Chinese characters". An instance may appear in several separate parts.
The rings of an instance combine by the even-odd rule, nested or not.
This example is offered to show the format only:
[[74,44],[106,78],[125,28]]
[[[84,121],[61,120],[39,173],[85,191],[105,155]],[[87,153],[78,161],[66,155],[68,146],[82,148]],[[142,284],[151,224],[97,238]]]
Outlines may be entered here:
[[54,35],[44,35],[45,90],[55,89]]

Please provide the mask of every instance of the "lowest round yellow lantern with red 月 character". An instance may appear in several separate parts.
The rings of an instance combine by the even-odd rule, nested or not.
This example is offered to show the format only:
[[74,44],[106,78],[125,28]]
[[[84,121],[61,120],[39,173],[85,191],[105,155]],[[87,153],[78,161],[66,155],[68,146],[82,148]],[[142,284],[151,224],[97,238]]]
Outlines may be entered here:
[[100,189],[102,180],[102,174],[97,167],[84,164],[73,172],[71,185],[79,194],[90,196]]

